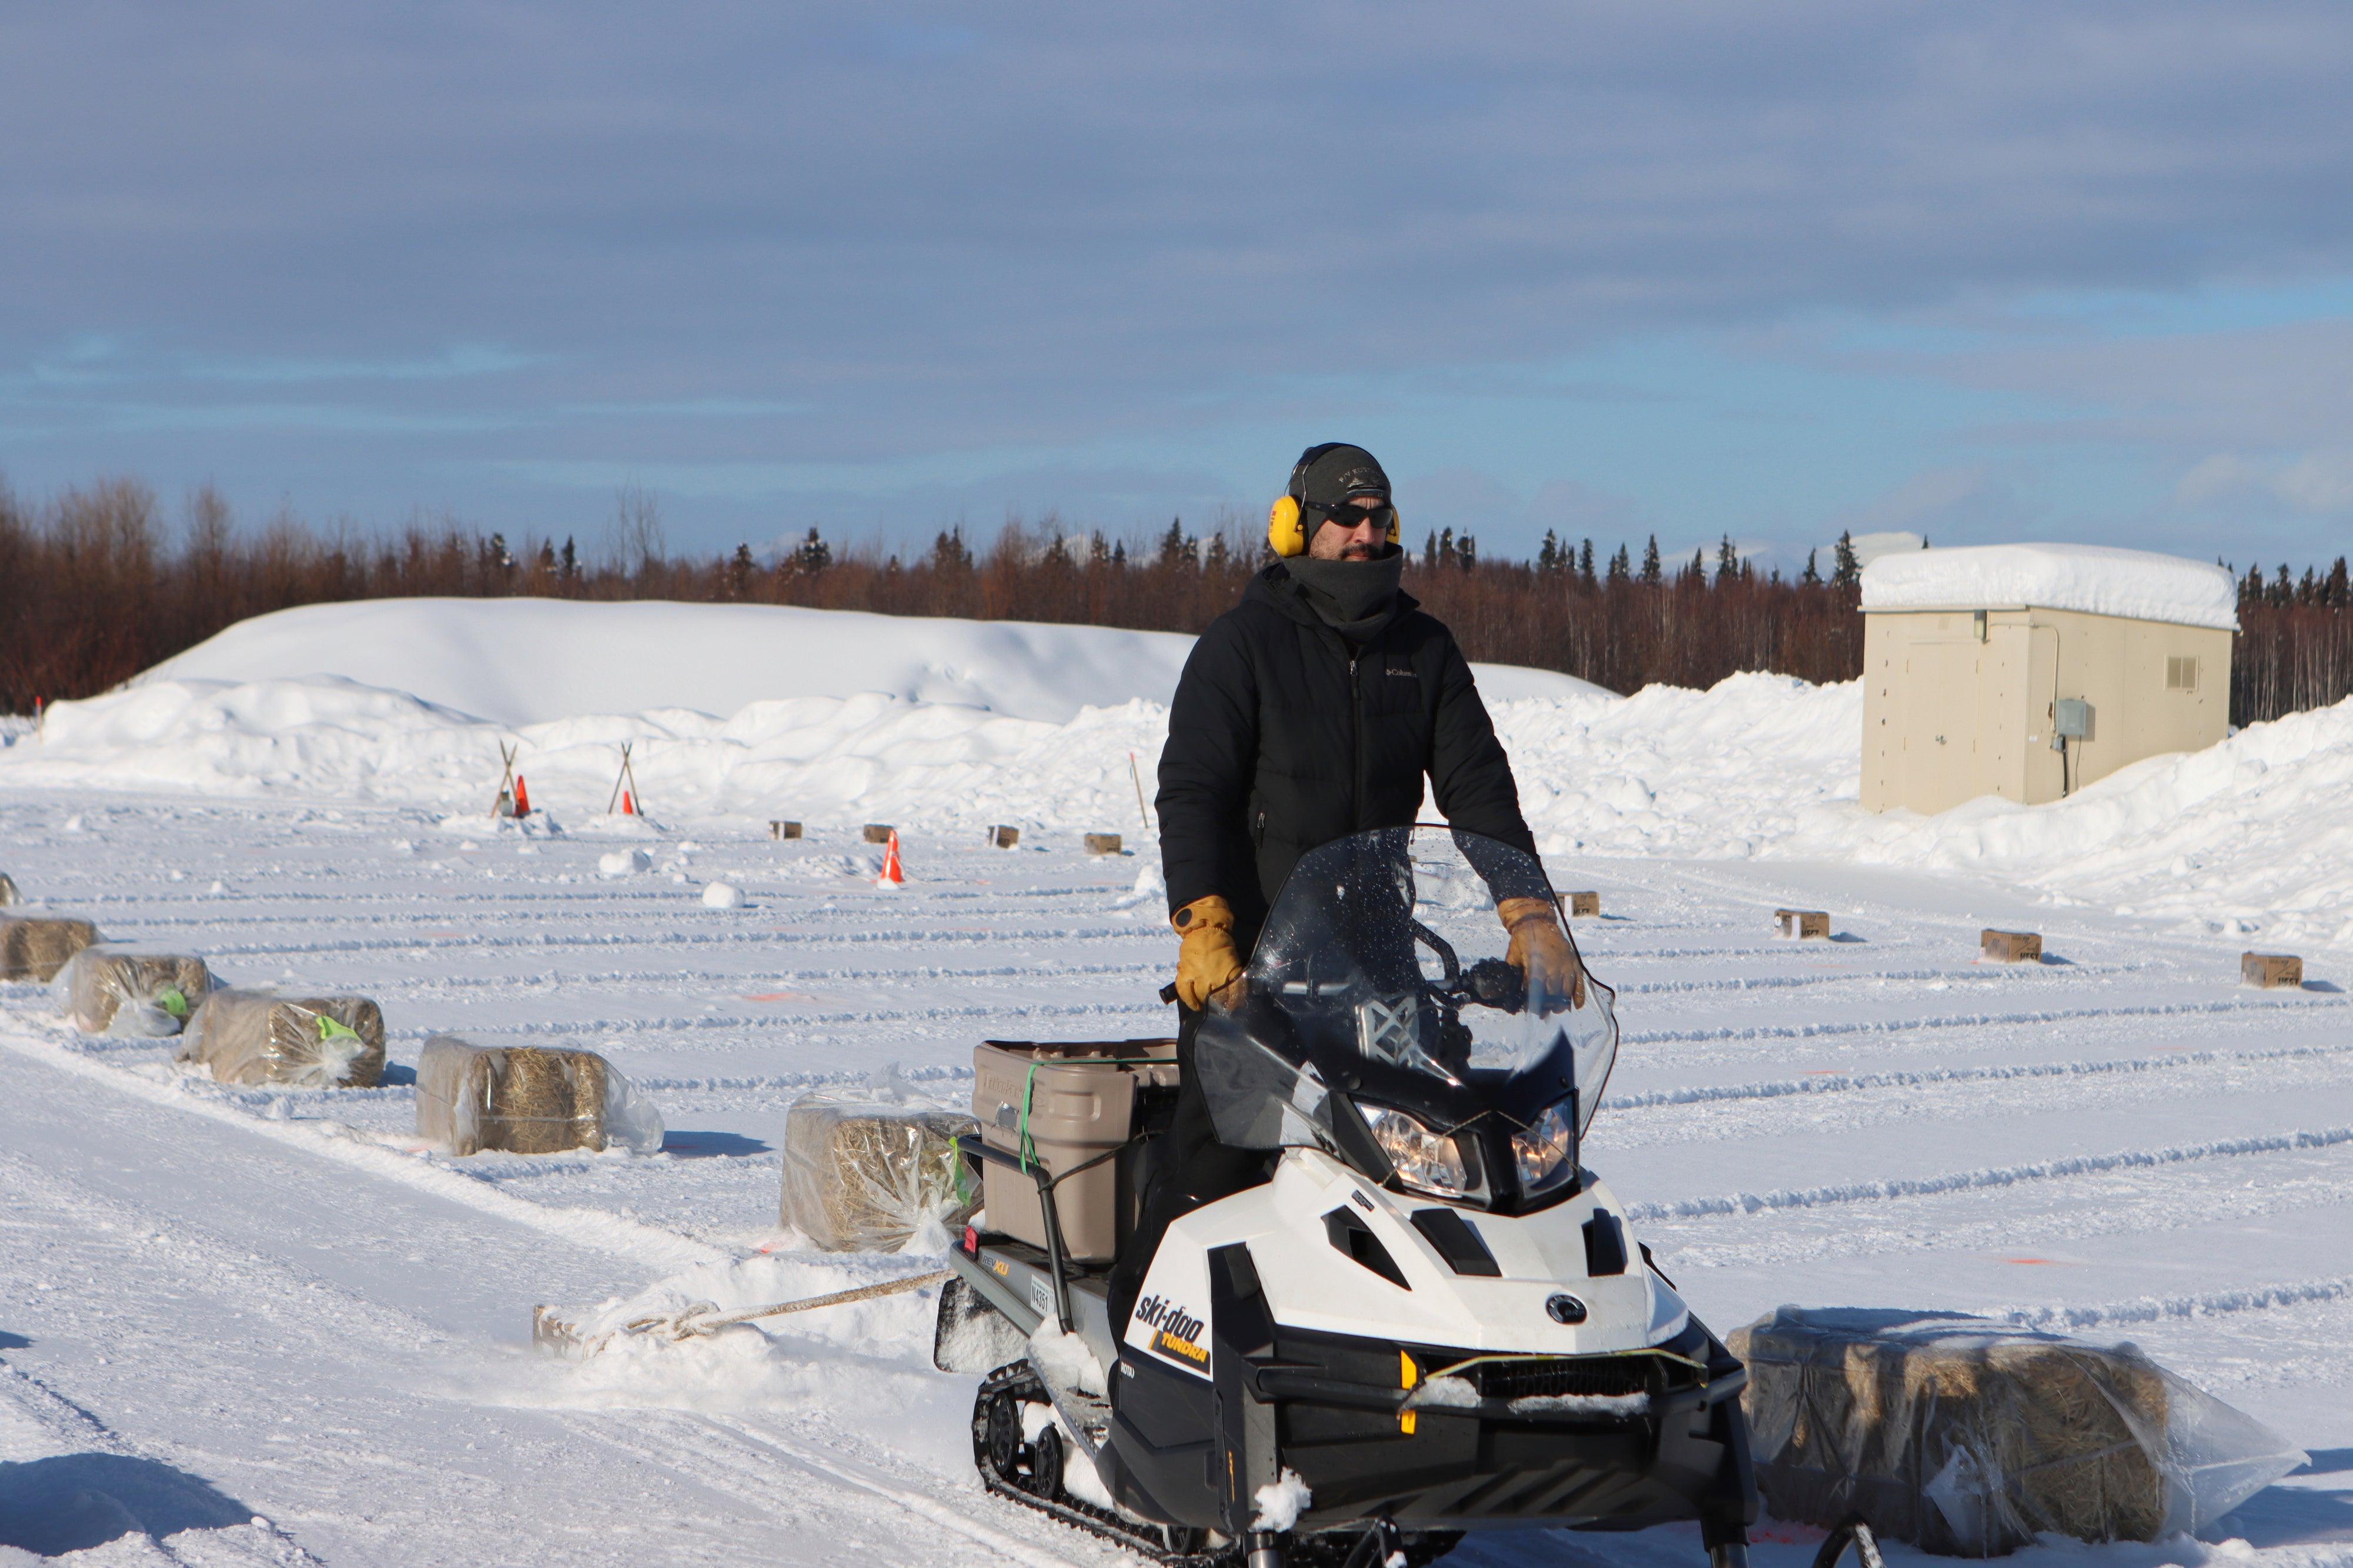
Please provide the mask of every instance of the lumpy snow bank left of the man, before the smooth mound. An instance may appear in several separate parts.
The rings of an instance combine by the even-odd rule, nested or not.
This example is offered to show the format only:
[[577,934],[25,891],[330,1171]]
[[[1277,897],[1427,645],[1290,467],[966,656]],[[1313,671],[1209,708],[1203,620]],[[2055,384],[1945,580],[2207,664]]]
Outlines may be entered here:
[[[1104,829],[1134,822],[1134,751],[1151,770],[1167,711],[1129,702],[1068,723],[887,695],[755,702],[732,718],[687,709],[504,730],[339,678],[155,680],[49,709],[38,746],[0,753],[0,779],[207,796],[304,793],[398,800],[480,817],[499,744],[520,742],[534,805],[567,829],[598,822],[631,744],[640,810],[656,819],[788,815],[812,824],[922,822]],[[621,866],[616,873],[626,876]]]

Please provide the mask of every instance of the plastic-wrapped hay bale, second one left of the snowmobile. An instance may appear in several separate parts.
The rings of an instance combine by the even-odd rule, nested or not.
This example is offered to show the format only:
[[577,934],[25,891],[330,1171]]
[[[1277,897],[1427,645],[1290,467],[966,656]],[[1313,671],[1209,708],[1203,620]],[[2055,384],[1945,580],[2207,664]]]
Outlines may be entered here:
[[475,1154],[661,1149],[661,1111],[593,1050],[475,1045],[435,1034],[416,1055],[416,1132]]

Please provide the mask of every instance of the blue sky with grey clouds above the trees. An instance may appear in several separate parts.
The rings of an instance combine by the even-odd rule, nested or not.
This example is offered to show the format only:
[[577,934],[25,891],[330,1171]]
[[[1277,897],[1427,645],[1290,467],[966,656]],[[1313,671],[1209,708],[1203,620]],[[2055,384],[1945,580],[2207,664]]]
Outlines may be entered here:
[[0,16],[0,473],[678,549],[2353,549],[2341,5]]

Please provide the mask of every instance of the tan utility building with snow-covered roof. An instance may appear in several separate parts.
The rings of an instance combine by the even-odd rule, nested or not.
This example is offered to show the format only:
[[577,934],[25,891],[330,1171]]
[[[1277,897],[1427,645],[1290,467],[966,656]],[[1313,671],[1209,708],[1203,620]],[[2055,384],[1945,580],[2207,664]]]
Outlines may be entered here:
[[1864,567],[1864,808],[2057,800],[2228,735],[2238,584],[2089,544],[1899,551]]

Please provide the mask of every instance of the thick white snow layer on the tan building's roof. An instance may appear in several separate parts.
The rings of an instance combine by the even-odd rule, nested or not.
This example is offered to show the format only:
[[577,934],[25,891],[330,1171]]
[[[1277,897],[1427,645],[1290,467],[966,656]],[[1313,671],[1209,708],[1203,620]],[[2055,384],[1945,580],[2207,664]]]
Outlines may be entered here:
[[2080,610],[2238,629],[2238,582],[2205,560],[2104,544],[1969,544],[1864,567],[1864,610]]

